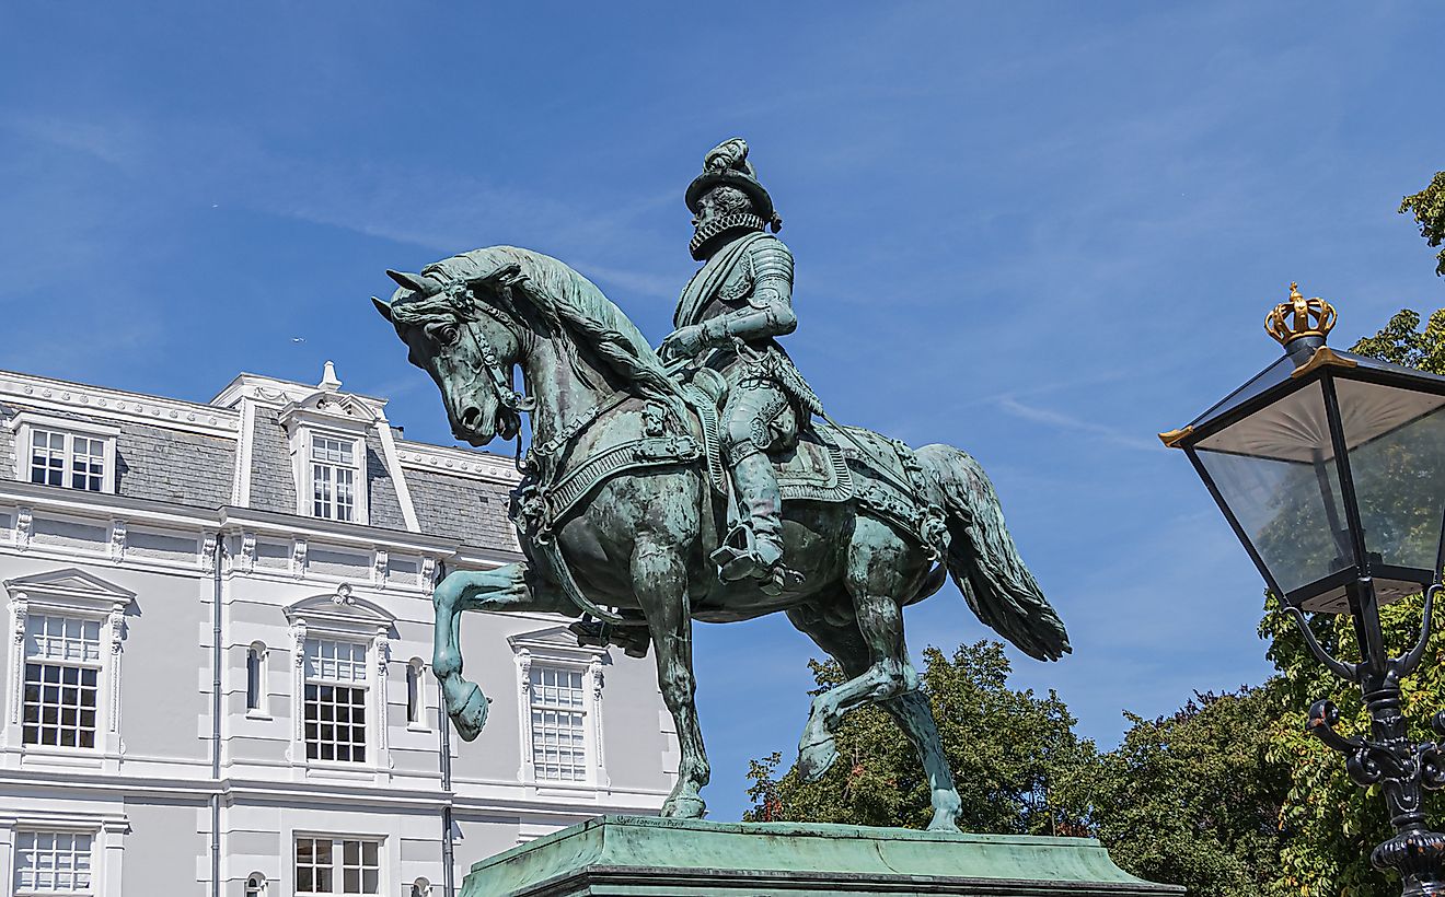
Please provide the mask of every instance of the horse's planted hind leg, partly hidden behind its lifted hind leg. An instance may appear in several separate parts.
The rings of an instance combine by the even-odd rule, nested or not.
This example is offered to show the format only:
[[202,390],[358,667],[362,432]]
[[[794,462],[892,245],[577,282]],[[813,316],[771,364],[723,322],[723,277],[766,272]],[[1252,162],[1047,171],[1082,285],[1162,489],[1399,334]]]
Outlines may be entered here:
[[[850,602],[847,595],[838,595],[835,599],[844,608]],[[868,670],[868,646],[851,620],[832,623],[812,607],[789,611],[788,620],[812,638],[814,644],[828,651],[842,667],[845,676],[858,677]],[[909,669],[912,670],[912,664]],[[958,789],[954,787],[954,773],[948,768],[948,757],[944,754],[944,744],[938,737],[938,725],[933,721],[928,696],[918,689],[910,689],[883,701],[880,706],[893,716],[903,734],[913,742],[913,750],[918,751],[918,758],[923,764],[929,799],[933,806],[933,819],[928,828],[957,832],[962,800],[958,797]]]

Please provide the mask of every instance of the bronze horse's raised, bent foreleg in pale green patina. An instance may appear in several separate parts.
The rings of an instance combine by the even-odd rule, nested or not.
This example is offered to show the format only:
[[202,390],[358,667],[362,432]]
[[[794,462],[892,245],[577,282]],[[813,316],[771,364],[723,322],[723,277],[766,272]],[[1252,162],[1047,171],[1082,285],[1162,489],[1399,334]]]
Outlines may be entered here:
[[483,695],[477,683],[467,682],[461,675],[461,612],[558,610],[552,604],[532,594],[526,568],[520,563],[491,571],[457,571],[436,585],[432,592],[432,607],[436,611],[432,673],[441,682],[447,715],[465,741],[475,738],[487,724],[487,705],[491,699]]

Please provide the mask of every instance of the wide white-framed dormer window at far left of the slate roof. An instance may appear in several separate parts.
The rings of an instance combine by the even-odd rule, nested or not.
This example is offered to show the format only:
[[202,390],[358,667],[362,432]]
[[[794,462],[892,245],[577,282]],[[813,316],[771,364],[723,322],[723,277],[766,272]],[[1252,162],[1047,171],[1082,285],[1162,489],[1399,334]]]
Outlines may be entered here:
[[116,491],[113,426],[23,412],[10,422],[16,432],[16,480],[87,493]]

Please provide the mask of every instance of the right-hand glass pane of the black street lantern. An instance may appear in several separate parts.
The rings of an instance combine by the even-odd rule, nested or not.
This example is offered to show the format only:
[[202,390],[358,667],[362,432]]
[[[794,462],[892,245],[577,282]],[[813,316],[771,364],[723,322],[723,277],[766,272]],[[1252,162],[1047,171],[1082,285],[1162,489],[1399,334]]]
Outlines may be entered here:
[[1366,552],[1433,575],[1445,520],[1445,396],[1344,378],[1335,394]]

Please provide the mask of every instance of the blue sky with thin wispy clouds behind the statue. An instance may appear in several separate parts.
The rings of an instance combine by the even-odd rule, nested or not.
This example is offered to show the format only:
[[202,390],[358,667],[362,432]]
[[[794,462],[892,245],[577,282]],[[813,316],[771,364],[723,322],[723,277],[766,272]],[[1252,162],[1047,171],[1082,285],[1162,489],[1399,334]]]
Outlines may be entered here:
[[[747,137],[798,259],[788,345],[834,416],[993,477],[1075,654],[1014,653],[1105,745],[1121,709],[1269,673],[1261,584],[1155,433],[1274,358],[1298,279],[1348,345],[1445,305],[1394,214],[1445,168],[1426,3],[0,7],[0,367],[207,400],[237,371],[389,396],[449,442],[367,302],[512,243],[655,341],[682,189]],[[296,342],[295,339],[303,339]],[[988,633],[952,589],[909,641]],[[812,646],[699,627],[714,818],[790,754]]]

